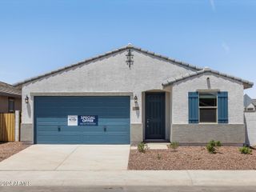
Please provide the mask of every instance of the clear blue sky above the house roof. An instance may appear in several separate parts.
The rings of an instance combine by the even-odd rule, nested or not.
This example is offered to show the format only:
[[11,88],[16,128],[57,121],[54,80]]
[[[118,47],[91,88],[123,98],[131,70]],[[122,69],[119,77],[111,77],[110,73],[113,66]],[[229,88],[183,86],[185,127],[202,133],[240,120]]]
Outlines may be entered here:
[[[256,1],[0,1],[0,81],[14,83],[128,42],[256,82]],[[256,98],[256,89],[246,90]]]

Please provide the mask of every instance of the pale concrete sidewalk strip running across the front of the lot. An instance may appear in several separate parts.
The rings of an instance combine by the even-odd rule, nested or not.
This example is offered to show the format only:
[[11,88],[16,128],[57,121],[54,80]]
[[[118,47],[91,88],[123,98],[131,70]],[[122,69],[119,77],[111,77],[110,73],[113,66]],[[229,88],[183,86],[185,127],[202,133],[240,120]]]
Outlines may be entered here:
[[31,186],[256,186],[255,170],[0,171]]

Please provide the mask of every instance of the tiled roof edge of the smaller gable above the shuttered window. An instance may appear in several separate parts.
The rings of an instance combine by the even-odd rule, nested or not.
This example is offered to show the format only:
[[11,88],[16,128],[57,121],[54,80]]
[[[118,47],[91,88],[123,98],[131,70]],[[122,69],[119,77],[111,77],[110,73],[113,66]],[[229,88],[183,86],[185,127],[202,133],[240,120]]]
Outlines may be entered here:
[[191,78],[191,77],[197,76],[198,74],[204,74],[206,72],[212,73],[212,74],[218,74],[218,75],[220,75],[222,77],[230,78],[230,79],[233,79],[235,81],[242,82],[245,89],[254,86],[253,82],[249,82],[247,80],[244,80],[242,78],[237,78],[237,77],[234,77],[234,76],[229,75],[229,74],[223,74],[223,73],[219,72],[218,70],[211,70],[208,67],[205,67],[202,70],[198,70],[196,72],[191,72],[191,73],[182,75],[180,78],[171,78],[169,80],[166,80],[166,82],[162,83],[162,86],[169,86],[169,85],[173,84],[174,82],[179,82],[179,81],[182,81],[182,80],[184,80],[186,78]]

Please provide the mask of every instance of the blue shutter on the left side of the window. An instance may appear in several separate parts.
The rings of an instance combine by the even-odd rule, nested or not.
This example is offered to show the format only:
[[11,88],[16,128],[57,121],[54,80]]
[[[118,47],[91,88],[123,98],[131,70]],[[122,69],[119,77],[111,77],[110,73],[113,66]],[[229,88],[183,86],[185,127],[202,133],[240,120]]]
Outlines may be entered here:
[[189,123],[198,123],[198,92],[189,92]]

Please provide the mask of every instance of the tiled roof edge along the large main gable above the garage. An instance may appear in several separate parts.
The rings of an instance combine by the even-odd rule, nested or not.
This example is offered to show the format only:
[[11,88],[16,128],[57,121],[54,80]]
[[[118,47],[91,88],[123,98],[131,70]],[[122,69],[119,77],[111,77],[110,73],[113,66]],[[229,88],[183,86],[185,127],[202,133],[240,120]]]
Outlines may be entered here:
[[60,68],[60,69],[58,69],[58,70],[52,70],[52,71],[50,71],[49,73],[42,74],[42,75],[38,75],[38,76],[36,76],[36,77],[34,77],[34,78],[28,78],[28,79],[25,79],[25,80],[22,81],[22,82],[14,83],[14,86],[20,86],[20,85],[25,84],[25,83],[27,83],[27,82],[33,82],[34,80],[37,80],[37,79],[39,79],[39,78],[44,78],[44,77],[47,77],[47,76],[49,76],[49,75],[51,75],[51,74],[57,74],[58,72],[61,72],[62,70],[68,70],[68,69],[73,68],[73,67],[75,67],[75,66],[80,66],[80,65],[86,64],[87,62],[92,62],[92,61],[97,60],[97,59],[99,59],[99,58],[104,58],[104,57],[109,56],[109,55],[111,55],[111,54],[116,54],[116,53],[121,52],[121,51],[123,51],[123,50],[129,50],[129,49],[131,49],[131,50],[137,50],[137,51],[142,52],[142,53],[144,53],[144,54],[149,54],[149,55],[154,56],[154,57],[156,57],[156,58],[164,59],[164,60],[166,60],[167,62],[174,62],[174,63],[176,63],[176,64],[178,64],[178,65],[180,65],[180,66],[185,66],[185,67],[188,67],[188,68],[190,68],[190,69],[192,69],[192,70],[202,70],[202,67],[193,66],[193,65],[190,65],[189,63],[181,62],[181,61],[175,60],[175,59],[173,59],[173,58],[168,58],[168,57],[166,57],[166,56],[163,56],[162,54],[156,54],[156,53],[151,52],[151,51],[149,51],[149,50],[143,50],[143,49],[140,48],[140,47],[136,47],[136,46],[133,46],[133,45],[131,45],[131,44],[128,44],[128,46],[123,46],[123,47],[121,47],[121,48],[119,48],[119,49],[106,52],[105,54],[99,54],[99,55],[97,55],[97,56],[95,56],[95,57],[93,57],[93,58],[87,58],[86,60],[84,60],[84,61],[82,61],[82,62],[78,62],[78,63],[75,63],[75,64],[70,65],[70,66],[65,66],[65,67],[62,67],[62,68]]

